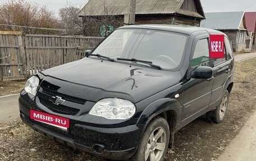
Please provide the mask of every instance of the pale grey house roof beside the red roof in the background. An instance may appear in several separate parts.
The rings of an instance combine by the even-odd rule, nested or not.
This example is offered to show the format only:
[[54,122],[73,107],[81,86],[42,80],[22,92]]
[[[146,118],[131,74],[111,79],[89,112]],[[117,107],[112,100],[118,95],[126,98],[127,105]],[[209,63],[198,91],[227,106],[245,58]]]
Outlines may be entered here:
[[207,12],[200,26],[215,30],[246,30],[244,11]]

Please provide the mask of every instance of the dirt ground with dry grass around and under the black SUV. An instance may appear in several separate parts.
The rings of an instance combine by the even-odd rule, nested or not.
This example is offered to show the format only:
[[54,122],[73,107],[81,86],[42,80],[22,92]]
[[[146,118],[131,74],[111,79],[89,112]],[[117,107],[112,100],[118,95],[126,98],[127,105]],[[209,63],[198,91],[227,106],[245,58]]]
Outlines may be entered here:
[[[175,135],[167,160],[216,160],[256,109],[256,58],[236,63],[229,111],[221,124],[199,117]],[[88,153],[58,144],[30,130],[20,121],[0,125],[0,160],[90,160]]]

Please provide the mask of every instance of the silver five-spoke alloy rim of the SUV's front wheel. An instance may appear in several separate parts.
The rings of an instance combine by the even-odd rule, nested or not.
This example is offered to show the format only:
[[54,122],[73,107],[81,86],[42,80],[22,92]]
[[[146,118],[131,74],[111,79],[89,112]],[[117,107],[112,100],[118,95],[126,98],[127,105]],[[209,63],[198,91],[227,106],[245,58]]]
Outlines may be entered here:
[[145,147],[145,161],[159,161],[166,146],[166,131],[157,127],[149,136]]

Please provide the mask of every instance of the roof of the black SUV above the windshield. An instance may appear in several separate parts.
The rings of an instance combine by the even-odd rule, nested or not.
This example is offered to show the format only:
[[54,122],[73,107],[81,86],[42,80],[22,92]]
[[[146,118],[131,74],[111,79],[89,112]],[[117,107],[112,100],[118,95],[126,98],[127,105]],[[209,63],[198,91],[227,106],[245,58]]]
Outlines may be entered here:
[[[158,25],[158,24],[150,24],[150,25],[130,25],[120,27],[121,29],[153,29],[153,30],[164,30],[164,31],[172,31],[175,33],[181,33],[186,35],[191,35],[196,31],[208,31],[210,34],[223,34],[221,31],[207,29],[203,27],[193,27],[193,26],[178,26],[178,25]],[[225,34],[224,34],[225,35]]]

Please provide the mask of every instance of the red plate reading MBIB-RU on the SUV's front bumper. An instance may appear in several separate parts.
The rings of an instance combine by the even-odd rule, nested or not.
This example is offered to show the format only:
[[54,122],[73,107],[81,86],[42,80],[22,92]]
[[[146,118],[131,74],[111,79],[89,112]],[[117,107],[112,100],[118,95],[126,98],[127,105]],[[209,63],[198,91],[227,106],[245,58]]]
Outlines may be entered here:
[[69,128],[70,123],[70,120],[68,118],[55,116],[52,114],[39,112],[32,109],[30,109],[30,118],[34,119],[35,121],[39,121],[51,126],[61,128],[62,130],[67,130],[67,128]]

